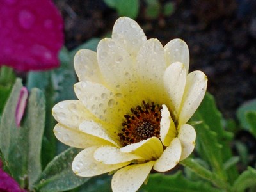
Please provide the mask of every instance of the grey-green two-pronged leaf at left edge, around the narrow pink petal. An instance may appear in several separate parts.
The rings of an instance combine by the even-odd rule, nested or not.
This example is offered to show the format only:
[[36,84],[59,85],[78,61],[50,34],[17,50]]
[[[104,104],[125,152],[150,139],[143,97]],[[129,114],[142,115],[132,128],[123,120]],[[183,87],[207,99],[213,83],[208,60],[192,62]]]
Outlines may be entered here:
[[22,88],[20,79],[13,86],[12,93],[3,111],[0,125],[0,148],[10,172],[22,188],[33,184],[41,173],[41,145],[45,125],[44,94],[37,88],[31,90],[26,114],[20,127],[15,124],[15,109]]

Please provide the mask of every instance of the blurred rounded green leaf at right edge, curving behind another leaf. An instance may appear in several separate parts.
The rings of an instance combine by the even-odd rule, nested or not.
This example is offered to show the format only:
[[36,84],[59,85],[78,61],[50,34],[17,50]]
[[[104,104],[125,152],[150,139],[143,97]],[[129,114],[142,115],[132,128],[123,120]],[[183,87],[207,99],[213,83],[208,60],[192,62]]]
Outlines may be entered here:
[[256,99],[244,102],[244,104],[242,104],[236,111],[241,126],[246,130],[250,129],[250,124],[246,119],[246,113],[248,111],[256,111]]

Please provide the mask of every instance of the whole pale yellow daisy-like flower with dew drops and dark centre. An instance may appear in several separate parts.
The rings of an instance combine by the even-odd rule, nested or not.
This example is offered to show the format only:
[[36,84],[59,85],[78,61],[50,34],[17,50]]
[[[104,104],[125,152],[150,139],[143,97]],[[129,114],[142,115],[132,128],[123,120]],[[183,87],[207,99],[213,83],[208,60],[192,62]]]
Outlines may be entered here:
[[186,122],[205,95],[207,77],[188,74],[184,41],[163,47],[121,17],[112,38],[101,40],[97,52],[77,52],[74,65],[79,100],[52,109],[58,140],[83,148],[72,163],[74,173],[92,177],[117,170],[113,191],[136,191],[152,169],[166,172],[191,154],[196,132]]

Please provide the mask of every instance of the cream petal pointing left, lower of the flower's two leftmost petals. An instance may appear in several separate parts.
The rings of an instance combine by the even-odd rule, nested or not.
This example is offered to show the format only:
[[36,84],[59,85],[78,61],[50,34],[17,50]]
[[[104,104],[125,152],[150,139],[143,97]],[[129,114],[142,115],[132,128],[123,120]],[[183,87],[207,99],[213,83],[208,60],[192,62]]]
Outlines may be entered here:
[[72,129],[64,125],[57,124],[54,127],[54,134],[62,143],[76,148],[86,148],[93,145],[111,145],[109,141],[102,140],[90,134],[85,134],[79,129]]

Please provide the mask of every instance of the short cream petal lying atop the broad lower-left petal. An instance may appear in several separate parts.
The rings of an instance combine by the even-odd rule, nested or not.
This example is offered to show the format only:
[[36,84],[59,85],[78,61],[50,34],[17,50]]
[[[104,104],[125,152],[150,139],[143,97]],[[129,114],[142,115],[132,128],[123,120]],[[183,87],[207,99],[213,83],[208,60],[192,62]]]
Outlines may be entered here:
[[140,156],[132,153],[120,152],[120,148],[103,146],[98,148],[94,153],[94,158],[104,164],[118,164],[135,159],[142,159]]

